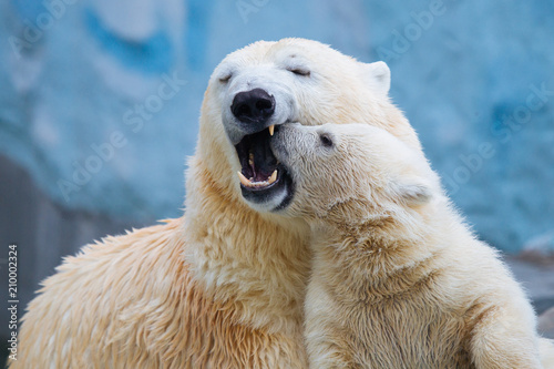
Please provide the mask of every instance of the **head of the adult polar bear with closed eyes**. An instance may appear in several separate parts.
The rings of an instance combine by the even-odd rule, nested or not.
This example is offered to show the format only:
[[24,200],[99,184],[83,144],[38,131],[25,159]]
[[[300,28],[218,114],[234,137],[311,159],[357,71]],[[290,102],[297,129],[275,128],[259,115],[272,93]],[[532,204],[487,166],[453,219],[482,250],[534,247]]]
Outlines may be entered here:
[[280,124],[366,123],[420,150],[409,122],[389,101],[389,85],[386,63],[358,62],[316,41],[253,43],[227,55],[212,74],[195,160],[226,195],[258,212],[278,212],[295,192],[293,176],[269,145]]

